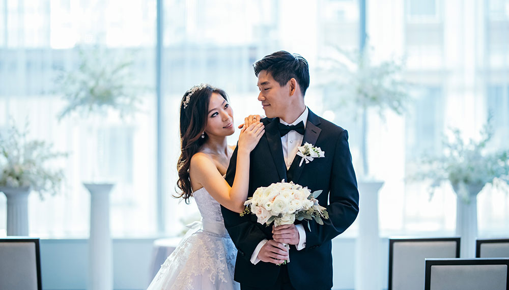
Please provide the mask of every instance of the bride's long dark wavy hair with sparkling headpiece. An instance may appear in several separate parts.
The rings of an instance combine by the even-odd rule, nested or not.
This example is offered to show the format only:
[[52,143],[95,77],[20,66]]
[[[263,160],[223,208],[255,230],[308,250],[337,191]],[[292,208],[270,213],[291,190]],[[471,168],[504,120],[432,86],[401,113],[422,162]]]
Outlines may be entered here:
[[[180,102],[180,157],[177,162],[179,180],[177,187],[181,190],[175,197],[182,197],[189,203],[192,196],[189,166],[191,157],[200,151],[208,139],[205,133],[209,101],[212,93],[221,95],[228,101],[227,94],[210,84],[195,85],[187,91]],[[203,137],[202,137],[203,136]]]

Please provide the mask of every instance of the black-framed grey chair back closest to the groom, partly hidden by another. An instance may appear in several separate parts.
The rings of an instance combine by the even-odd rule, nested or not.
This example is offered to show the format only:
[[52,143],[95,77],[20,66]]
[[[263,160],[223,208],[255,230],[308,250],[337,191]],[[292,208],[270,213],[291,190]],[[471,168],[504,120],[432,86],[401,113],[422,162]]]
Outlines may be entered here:
[[388,290],[422,290],[425,258],[460,257],[460,238],[389,239]]

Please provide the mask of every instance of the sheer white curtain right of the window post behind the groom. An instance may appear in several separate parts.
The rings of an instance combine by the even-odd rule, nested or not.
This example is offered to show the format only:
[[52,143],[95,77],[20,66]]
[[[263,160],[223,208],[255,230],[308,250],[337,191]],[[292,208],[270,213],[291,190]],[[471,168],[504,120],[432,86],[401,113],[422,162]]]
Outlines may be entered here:
[[[490,112],[496,130],[490,150],[507,149],[509,1],[374,0],[369,11],[369,34],[379,57],[404,56],[405,76],[415,89],[405,117],[372,132],[384,132],[373,146],[389,156],[374,166],[386,176],[380,192],[382,234],[454,234],[456,195],[450,185],[430,198],[429,184],[405,182],[404,173],[417,166],[422,153],[439,154],[450,127],[465,138],[479,138]],[[392,135],[395,141],[387,139]],[[391,147],[401,140],[404,156],[397,157],[397,167],[402,170],[386,170],[393,169],[387,166],[398,153]],[[485,187],[478,195],[479,235],[506,235],[508,208],[503,189]]]

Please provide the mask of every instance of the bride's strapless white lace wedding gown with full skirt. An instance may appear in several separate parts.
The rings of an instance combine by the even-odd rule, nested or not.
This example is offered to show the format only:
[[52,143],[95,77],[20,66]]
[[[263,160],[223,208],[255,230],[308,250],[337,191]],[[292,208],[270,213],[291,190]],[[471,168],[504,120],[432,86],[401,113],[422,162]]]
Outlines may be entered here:
[[193,193],[202,222],[182,238],[147,290],[238,290],[233,280],[237,249],[224,228],[221,207],[201,188]]

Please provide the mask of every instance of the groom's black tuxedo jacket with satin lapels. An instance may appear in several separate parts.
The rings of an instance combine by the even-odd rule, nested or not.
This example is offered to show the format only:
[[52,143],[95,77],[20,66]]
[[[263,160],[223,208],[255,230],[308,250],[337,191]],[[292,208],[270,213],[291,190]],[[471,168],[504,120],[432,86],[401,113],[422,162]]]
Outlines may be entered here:
[[[343,233],[355,220],[359,212],[359,192],[348,146],[348,132],[324,120],[309,110],[303,142],[320,147],[325,157],[316,158],[299,166],[296,156],[287,171],[282,153],[279,119],[262,119],[265,134],[251,152],[249,168],[249,192],[261,186],[285,180],[307,186],[310,191],[323,190],[318,197],[320,205],[327,208],[329,219],[324,225],[310,221],[306,231],[306,247],[297,251],[290,246],[288,273],[296,289],[323,289],[332,287],[331,240]],[[235,149],[226,180],[233,184],[237,164]],[[238,249],[235,280],[250,286],[264,287],[273,284],[280,267],[272,263],[259,262],[253,265],[251,255],[263,239],[272,239],[272,225],[257,222],[253,214],[244,217],[221,207],[224,224]],[[263,282],[262,282],[263,281]]]

